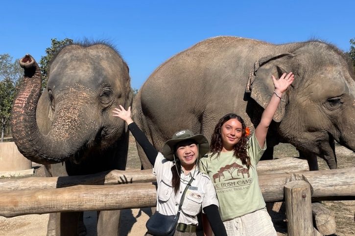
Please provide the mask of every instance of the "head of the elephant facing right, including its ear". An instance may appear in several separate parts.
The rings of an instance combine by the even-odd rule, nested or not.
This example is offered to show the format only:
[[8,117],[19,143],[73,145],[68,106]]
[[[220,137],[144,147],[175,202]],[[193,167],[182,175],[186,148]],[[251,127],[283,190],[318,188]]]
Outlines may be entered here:
[[347,58],[320,42],[297,44],[261,58],[250,79],[251,97],[263,108],[273,94],[270,74],[292,71],[295,80],[274,116],[285,142],[312,150],[336,168],[333,140],[355,150],[355,81]]

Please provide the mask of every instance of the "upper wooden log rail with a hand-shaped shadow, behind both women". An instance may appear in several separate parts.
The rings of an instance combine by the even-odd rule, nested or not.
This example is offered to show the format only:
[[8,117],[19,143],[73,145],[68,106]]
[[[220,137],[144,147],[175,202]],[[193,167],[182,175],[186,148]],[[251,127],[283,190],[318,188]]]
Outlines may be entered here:
[[[260,161],[257,166],[259,174],[289,173],[307,171],[307,160],[293,157]],[[75,185],[110,185],[132,184],[156,181],[151,169],[147,170],[112,170],[91,175],[64,177],[29,177],[24,179],[0,180],[1,190],[56,189]]]

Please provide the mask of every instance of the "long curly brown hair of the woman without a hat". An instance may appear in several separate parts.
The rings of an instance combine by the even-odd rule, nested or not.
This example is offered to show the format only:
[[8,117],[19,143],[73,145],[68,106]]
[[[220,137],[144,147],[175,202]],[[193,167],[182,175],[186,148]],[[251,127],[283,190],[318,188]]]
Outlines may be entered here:
[[230,119],[237,119],[241,123],[241,126],[242,126],[241,139],[236,145],[234,145],[233,156],[235,156],[236,158],[239,158],[241,160],[241,163],[243,165],[246,165],[249,169],[249,167],[251,166],[251,162],[250,162],[250,157],[248,156],[248,153],[246,151],[246,149],[248,148],[248,145],[249,145],[248,138],[245,136],[246,126],[245,126],[244,120],[240,116],[238,116],[237,114],[234,114],[234,113],[229,113],[229,114],[225,115],[224,117],[220,118],[216,127],[214,128],[214,132],[213,132],[212,139],[211,139],[211,145],[210,145],[210,152],[212,153],[211,157],[215,154],[217,154],[216,158],[219,157],[219,154],[220,154],[222,147],[223,147],[221,129],[222,129],[223,124]]

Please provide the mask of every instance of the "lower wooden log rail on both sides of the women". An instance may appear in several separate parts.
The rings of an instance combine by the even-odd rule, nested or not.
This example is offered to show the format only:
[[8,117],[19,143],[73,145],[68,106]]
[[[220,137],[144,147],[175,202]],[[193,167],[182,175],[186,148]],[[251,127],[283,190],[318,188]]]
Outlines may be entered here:
[[[355,167],[297,174],[304,175],[312,186],[312,200],[355,200]],[[284,185],[289,177],[290,174],[286,173],[260,175],[260,189],[265,201],[284,201]],[[5,217],[48,212],[131,209],[155,204],[156,187],[152,183],[0,191],[0,215]]]

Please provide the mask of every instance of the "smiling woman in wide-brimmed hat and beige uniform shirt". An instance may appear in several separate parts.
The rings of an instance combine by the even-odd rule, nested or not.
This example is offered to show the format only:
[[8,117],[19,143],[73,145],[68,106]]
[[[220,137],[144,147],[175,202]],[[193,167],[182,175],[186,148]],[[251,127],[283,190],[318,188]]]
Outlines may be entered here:
[[[114,109],[114,115],[123,119],[136,141],[142,146],[157,176],[157,211],[163,215],[176,215],[184,189],[188,187],[174,236],[196,236],[196,215],[202,207],[211,223],[213,233],[226,236],[218,213],[218,200],[210,178],[198,171],[198,158],[209,151],[207,139],[189,130],[180,130],[164,144],[163,154],[148,141],[131,118],[131,107]],[[192,178],[192,180],[191,180]],[[147,233],[147,236],[150,234]]]

